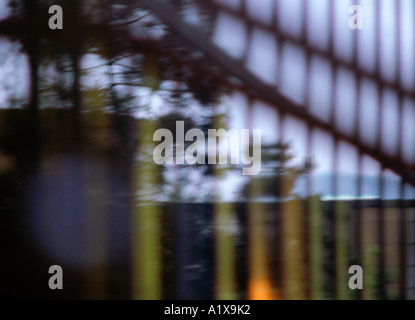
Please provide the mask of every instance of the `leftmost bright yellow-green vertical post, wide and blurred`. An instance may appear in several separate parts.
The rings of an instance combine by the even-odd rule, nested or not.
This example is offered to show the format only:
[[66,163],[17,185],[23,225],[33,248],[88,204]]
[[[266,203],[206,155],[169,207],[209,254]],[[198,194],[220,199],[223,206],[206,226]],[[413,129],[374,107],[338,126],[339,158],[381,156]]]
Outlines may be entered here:
[[138,160],[134,168],[133,299],[157,300],[161,288],[161,223],[154,198],[159,168],[153,161],[155,122],[140,120]]

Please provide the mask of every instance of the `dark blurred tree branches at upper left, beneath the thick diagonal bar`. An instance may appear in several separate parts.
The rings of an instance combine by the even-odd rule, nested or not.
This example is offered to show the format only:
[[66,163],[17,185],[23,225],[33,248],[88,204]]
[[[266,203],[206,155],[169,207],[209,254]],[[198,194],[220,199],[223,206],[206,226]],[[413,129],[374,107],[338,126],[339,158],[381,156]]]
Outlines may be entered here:
[[[64,29],[59,33],[44,23],[52,4],[61,5],[64,12]],[[96,55],[100,66],[107,68],[101,77],[107,77],[115,111],[132,112],[137,107],[128,99],[131,92],[126,87],[149,88],[166,102],[182,107],[193,103],[189,94],[208,106],[217,103],[227,90],[223,74],[200,52],[170,33],[154,15],[141,9],[139,2],[13,0],[9,6],[13,12],[9,20],[31,30],[16,36],[29,55],[36,54],[40,59],[36,61],[44,71],[39,79],[40,90],[55,95],[55,102],[70,97],[76,78],[98,67],[79,69],[87,54]],[[69,82],[63,81],[65,78]],[[89,90],[85,86],[89,84],[73,89]],[[130,103],[123,105],[122,101]]]

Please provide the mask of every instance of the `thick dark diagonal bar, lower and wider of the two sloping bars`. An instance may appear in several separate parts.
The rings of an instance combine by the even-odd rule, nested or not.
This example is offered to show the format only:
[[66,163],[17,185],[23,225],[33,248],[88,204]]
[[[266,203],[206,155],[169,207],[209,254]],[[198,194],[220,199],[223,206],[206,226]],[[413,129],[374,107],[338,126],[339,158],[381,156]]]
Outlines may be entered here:
[[403,182],[415,186],[415,168],[404,164],[399,158],[386,155],[380,151],[379,148],[371,148],[361,144],[358,138],[347,136],[333,124],[324,122],[309,113],[304,106],[294,103],[281,95],[275,87],[264,83],[256,75],[248,71],[240,61],[232,58],[225,51],[212,43],[207,35],[183,21],[169,3],[160,0],[141,0],[140,4],[144,8],[154,12],[178,36],[189,42],[196,49],[201,50],[212,60],[212,62],[221,67],[226,73],[240,80],[244,84],[244,87],[249,88],[251,93],[259,99],[306,121],[312,126],[330,132],[333,138],[341,139],[352,144],[359,152],[368,154],[379,161],[381,165],[399,175]]

